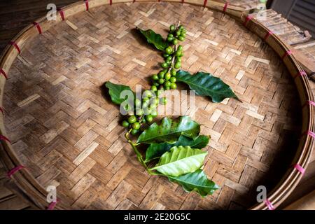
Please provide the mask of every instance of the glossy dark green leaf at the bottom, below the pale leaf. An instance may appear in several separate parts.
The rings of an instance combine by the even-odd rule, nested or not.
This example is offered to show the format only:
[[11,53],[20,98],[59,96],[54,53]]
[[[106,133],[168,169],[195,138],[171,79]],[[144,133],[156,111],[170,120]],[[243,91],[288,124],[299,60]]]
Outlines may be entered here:
[[169,181],[179,183],[187,192],[194,190],[202,197],[212,195],[219,188],[214,181],[207,178],[207,175],[201,169],[181,176],[169,176]]

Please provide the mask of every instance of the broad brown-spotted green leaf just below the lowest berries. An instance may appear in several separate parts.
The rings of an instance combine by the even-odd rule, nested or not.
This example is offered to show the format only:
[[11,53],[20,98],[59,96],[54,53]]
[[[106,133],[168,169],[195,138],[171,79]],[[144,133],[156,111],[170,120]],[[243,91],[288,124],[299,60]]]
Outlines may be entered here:
[[171,118],[162,118],[162,123],[153,123],[142,132],[137,143],[175,142],[181,135],[195,139],[200,133],[200,125],[189,116],[179,118],[179,121]]

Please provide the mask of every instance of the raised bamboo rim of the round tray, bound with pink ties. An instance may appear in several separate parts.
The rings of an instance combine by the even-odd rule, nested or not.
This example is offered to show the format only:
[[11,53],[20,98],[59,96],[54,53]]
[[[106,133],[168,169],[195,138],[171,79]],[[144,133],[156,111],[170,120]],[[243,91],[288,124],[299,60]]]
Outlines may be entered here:
[[[107,6],[118,3],[133,3],[134,0],[109,0],[108,2],[104,0],[89,0],[88,8],[95,8],[98,6]],[[156,2],[150,0],[137,0],[137,2]],[[226,3],[219,3],[216,1],[207,1],[207,0],[166,0],[166,2],[170,3],[188,3],[195,6],[203,6],[204,8],[209,8],[211,10],[217,10],[223,12],[227,15],[232,16],[239,22],[244,23],[245,27],[247,27],[254,34],[259,36],[262,39],[265,39],[267,34],[270,34],[269,29],[262,25],[255,18],[251,18],[248,15],[248,10],[241,8],[239,6],[227,5]],[[83,11],[87,11],[86,1],[77,1],[76,3],[72,3],[69,6],[65,6],[61,8],[62,12],[69,17],[71,15],[75,15],[76,13],[81,13]],[[228,6],[228,7],[227,7]],[[41,26],[41,31],[44,32],[48,30],[53,25],[56,25],[58,22],[63,20],[60,11],[57,13],[57,20],[48,21],[44,16],[34,21],[39,26]],[[66,19],[66,18],[65,18]],[[17,43],[20,47],[20,50],[23,49],[25,43],[31,41],[32,38],[39,35],[38,29],[36,25],[28,25],[25,29],[22,29],[18,35],[13,38],[13,42]],[[297,91],[299,93],[300,102],[302,102],[302,133],[307,131],[314,130],[314,107],[307,104],[308,101],[314,102],[314,97],[312,94],[311,87],[309,86],[307,77],[305,76],[296,76],[298,73],[304,72],[302,66],[300,66],[297,59],[295,59],[293,54],[288,54],[290,52],[290,48],[286,43],[283,43],[281,39],[276,36],[276,34],[270,34],[268,38],[265,39],[265,42],[278,53],[279,57],[282,55],[286,55],[283,57],[283,63],[286,68],[290,72],[291,76],[294,78],[295,87],[297,87]],[[15,58],[18,57],[18,52],[15,49],[14,45],[6,45],[6,48],[3,50],[0,56],[0,68],[3,69],[6,73],[10,70],[10,66],[13,64]],[[3,87],[6,83],[5,76],[1,76],[0,78],[0,108],[2,109],[3,105]],[[0,115],[0,134],[2,136],[6,136],[6,129],[3,124],[3,114]],[[293,158],[292,165],[300,165],[304,169],[307,168],[309,158],[311,157],[311,153],[314,147],[314,138],[309,136],[309,134],[302,134],[299,142],[299,146],[295,153],[295,158]],[[1,150],[0,150],[0,160],[3,162],[4,167],[7,170],[11,170],[14,167],[18,167],[21,165],[20,158],[13,150],[13,146],[8,141],[1,141]],[[41,186],[38,181],[34,178],[34,176],[27,170],[21,169],[20,172],[15,173],[11,179],[15,182],[15,184],[24,192],[31,202],[38,209],[45,209],[49,206],[48,202],[46,202],[47,192]],[[290,167],[286,174],[284,174],[283,178],[279,181],[276,187],[272,191],[267,194],[267,200],[272,204],[274,208],[279,207],[281,202],[283,202],[288,195],[294,190],[297,184],[302,179],[302,173],[297,172],[294,167]],[[55,209],[70,209],[65,206],[62,202],[56,204]],[[260,202],[249,209],[270,209],[268,204],[265,202]]]

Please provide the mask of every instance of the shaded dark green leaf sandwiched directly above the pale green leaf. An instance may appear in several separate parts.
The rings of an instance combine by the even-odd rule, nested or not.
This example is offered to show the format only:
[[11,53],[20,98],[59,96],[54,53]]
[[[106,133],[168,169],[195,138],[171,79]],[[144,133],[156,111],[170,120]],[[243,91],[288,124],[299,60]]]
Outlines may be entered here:
[[190,139],[181,135],[174,144],[168,142],[153,143],[146,150],[146,162],[159,158],[173,146],[190,146],[190,148],[204,148],[209,143],[209,137],[200,135],[196,139]]

